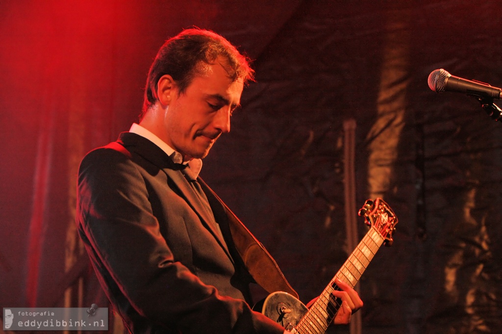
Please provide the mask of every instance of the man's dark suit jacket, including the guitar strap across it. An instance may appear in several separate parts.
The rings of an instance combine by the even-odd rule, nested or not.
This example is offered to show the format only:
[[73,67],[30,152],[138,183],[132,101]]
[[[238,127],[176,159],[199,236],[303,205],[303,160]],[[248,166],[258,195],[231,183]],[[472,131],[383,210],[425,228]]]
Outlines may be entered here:
[[77,226],[103,289],[134,333],[281,333],[244,302],[248,283],[296,292],[202,186],[225,241],[179,166],[150,140],[122,133],[84,157]]

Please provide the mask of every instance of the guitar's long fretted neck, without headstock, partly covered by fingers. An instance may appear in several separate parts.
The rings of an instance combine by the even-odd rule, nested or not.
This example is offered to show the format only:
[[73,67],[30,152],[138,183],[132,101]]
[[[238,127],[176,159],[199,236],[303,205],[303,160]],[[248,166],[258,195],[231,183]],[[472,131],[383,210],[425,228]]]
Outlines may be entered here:
[[335,289],[339,290],[335,283],[335,279],[338,278],[340,281],[354,287],[369,265],[369,262],[371,262],[376,252],[384,243],[384,240],[385,239],[380,233],[373,227],[369,229],[341,269],[338,270],[328,286],[326,286],[324,291],[319,295],[319,298],[317,298],[295,326],[297,333],[322,334],[326,331],[341,305],[341,300],[337,298],[333,302],[333,298],[331,298],[331,292]]

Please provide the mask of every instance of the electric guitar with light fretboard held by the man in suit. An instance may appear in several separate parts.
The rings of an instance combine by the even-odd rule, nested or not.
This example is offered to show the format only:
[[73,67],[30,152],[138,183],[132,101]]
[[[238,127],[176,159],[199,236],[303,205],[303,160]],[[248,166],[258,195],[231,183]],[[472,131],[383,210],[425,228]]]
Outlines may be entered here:
[[341,299],[331,295],[333,290],[340,290],[335,279],[354,287],[380,247],[383,244],[391,246],[393,242],[392,233],[398,218],[384,200],[367,200],[358,215],[364,217],[369,226],[368,232],[310,309],[291,294],[282,291],[271,293],[254,309],[261,310],[292,333],[324,333],[341,306]]

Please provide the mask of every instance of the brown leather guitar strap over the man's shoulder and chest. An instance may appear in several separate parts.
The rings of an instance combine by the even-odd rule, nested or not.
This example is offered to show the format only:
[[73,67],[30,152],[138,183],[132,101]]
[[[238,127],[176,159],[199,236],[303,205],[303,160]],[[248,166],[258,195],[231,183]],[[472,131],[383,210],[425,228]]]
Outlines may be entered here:
[[[105,148],[111,148],[121,152],[131,159],[131,152],[121,145],[113,141]],[[220,205],[225,209],[228,218],[228,226],[232,236],[233,243],[239,253],[244,265],[256,283],[265,289],[268,293],[276,291],[284,291],[295,298],[298,298],[298,293],[291,287],[276,261],[265,249],[265,247],[256,239],[256,237],[244,226],[244,224],[235,216],[235,214],[223,203],[223,201],[209,188],[202,179],[198,179],[204,191],[212,195]]]

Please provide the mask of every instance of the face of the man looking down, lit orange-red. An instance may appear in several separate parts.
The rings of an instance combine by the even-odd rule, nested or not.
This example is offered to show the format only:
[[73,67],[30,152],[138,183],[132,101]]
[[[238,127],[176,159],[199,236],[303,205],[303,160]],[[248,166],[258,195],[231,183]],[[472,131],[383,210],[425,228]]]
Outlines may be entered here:
[[230,131],[242,88],[242,81],[232,82],[218,61],[195,77],[183,94],[178,96],[175,88],[164,119],[167,144],[185,160],[205,157],[216,139]]

